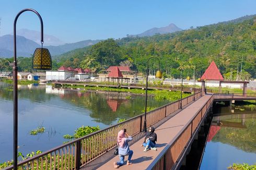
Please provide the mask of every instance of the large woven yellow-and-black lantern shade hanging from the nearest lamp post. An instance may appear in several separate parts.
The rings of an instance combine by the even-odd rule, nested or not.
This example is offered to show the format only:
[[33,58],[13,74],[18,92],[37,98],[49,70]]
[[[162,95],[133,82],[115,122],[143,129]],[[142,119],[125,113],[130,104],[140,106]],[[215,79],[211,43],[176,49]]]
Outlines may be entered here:
[[37,48],[33,54],[32,65],[33,69],[51,70],[52,59],[49,50],[47,48]]

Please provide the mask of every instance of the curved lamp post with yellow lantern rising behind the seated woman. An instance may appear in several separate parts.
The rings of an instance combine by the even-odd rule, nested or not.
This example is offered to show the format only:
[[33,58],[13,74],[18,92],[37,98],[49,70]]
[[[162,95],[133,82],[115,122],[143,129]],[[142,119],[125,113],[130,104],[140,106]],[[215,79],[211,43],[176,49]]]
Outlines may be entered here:
[[[155,56],[152,56],[150,58],[154,58]],[[148,62],[149,62],[149,59],[147,60],[147,70],[146,70],[146,103],[145,103],[145,116],[144,116],[144,128],[143,128],[143,131],[144,132],[147,132],[147,80],[148,80]],[[155,57],[158,59],[158,70],[156,72],[156,78],[162,78],[162,73],[161,71],[159,70],[159,66],[160,66],[160,59],[158,57]]]

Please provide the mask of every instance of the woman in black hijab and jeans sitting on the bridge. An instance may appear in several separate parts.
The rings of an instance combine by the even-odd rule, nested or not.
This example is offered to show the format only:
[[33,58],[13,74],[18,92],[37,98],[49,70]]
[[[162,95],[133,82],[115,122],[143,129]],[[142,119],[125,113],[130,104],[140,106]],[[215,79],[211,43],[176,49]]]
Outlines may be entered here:
[[144,143],[143,143],[143,146],[146,147],[144,149],[144,152],[147,152],[149,149],[152,149],[155,151],[157,150],[155,148],[156,141],[157,141],[157,135],[154,131],[155,131],[155,128],[153,126],[150,126],[148,129],[147,135],[145,137]]

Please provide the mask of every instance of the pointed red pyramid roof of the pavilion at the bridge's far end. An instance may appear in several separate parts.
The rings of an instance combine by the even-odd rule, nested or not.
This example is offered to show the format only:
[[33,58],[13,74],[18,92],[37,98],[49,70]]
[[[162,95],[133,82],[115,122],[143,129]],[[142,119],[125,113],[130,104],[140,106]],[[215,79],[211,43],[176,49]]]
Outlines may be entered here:
[[201,80],[224,80],[224,78],[222,77],[222,74],[220,74],[218,67],[213,61],[205,70]]

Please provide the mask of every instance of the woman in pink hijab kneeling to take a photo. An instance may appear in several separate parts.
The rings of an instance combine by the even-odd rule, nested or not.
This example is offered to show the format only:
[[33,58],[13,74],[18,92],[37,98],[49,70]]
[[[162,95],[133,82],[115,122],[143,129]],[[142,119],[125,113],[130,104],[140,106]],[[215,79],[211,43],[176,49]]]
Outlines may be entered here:
[[[126,131],[126,130],[125,130]],[[127,138],[125,138],[125,135]],[[124,165],[124,156],[128,156],[128,161],[126,165],[130,165],[131,163],[131,158],[133,155],[133,151],[130,150],[128,142],[133,140],[131,136],[129,136],[124,130],[120,130],[118,132],[118,153],[119,153],[119,162],[114,162],[114,168],[118,168],[121,165]]]

